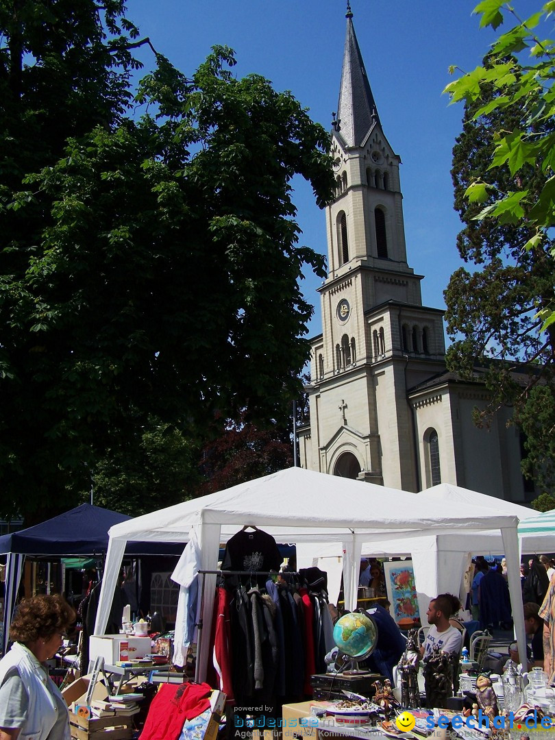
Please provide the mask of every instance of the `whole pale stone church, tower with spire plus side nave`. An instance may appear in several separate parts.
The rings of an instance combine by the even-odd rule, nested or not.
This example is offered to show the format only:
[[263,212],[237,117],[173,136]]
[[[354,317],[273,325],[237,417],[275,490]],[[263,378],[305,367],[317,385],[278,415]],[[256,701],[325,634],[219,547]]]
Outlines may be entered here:
[[389,144],[347,12],[326,208],[323,332],[312,340],[310,424],[300,464],[407,491],[449,482],[514,502],[533,498],[509,409],[477,428],[487,391],[445,368],[443,312],[422,305],[408,265],[400,157]]

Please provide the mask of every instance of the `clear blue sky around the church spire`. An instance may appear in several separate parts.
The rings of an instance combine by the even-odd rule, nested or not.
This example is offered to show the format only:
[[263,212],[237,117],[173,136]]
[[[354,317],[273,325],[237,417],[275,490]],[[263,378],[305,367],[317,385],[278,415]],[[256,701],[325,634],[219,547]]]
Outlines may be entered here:
[[[461,264],[455,246],[460,221],[453,209],[451,150],[462,106],[442,90],[457,64],[480,64],[494,38],[471,15],[476,1],[351,0],[354,28],[384,132],[400,155],[408,263],[425,275],[423,303],[443,308],[443,290]],[[540,7],[516,0],[528,17]],[[258,73],[277,90],[291,90],[315,121],[330,128],[337,110],[346,30],[344,0],[129,0],[128,16],[158,51],[185,74],[212,44],[235,50],[235,74]],[[295,181],[302,240],[326,253],[323,212],[309,186]],[[310,334],[321,331],[320,280],[303,290],[316,307]]]

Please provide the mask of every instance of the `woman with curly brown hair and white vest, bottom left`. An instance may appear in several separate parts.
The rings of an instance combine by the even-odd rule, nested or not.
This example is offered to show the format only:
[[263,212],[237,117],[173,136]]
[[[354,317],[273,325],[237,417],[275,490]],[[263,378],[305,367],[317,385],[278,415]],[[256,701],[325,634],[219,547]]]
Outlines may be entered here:
[[73,622],[62,596],[21,601],[10,626],[15,642],[0,660],[0,740],[70,740],[67,704],[45,664]]

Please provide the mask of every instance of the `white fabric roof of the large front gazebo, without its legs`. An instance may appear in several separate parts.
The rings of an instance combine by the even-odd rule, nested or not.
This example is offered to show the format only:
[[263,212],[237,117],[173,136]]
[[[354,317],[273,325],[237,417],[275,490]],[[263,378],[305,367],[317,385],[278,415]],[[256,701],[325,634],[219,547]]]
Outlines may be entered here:
[[412,537],[515,527],[514,514],[454,506],[382,485],[304,468],[286,470],[135,517],[110,528],[112,539],[186,541],[192,525],[222,525],[221,541],[243,525],[263,526],[278,542]]

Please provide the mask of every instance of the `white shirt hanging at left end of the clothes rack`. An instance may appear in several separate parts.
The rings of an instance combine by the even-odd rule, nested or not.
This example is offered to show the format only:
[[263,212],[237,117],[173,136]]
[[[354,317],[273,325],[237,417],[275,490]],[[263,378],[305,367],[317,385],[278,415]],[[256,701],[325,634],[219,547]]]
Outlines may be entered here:
[[178,610],[175,615],[175,636],[173,641],[173,662],[185,665],[187,648],[197,639],[198,609],[198,570],[201,567],[201,548],[195,530],[191,530],[178,564],[172,573],[172,581],[179,584]]

